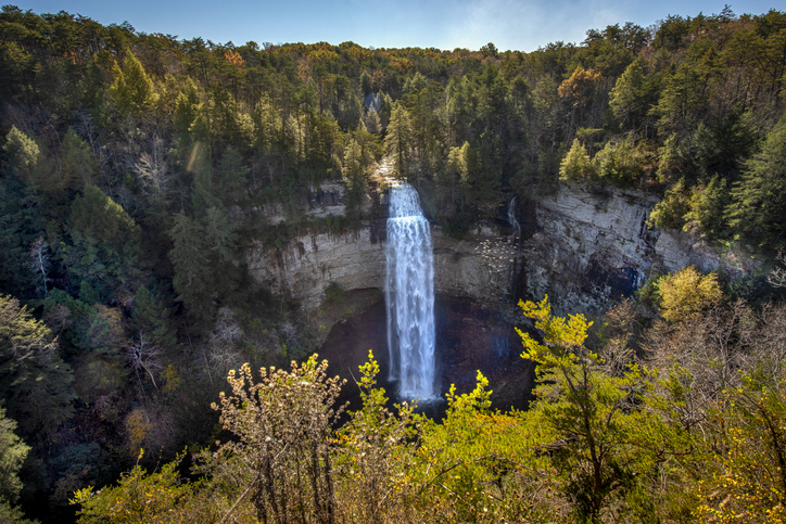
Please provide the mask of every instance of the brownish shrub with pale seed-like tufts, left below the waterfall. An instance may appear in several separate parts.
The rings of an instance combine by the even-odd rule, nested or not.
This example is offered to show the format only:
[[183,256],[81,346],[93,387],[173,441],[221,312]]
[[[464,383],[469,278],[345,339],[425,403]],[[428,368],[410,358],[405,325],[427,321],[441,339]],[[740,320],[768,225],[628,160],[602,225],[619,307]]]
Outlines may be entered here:
[[289,372],[262,368],[254,383],[246,363],[229,372],[231,394],[213,405],[236,437],[220,453],[237,468],[238,501],[249,496],[262,522],[338,521],[329,437],[343,409],[333,408],[342,382],[328,379],[327,367],[314,355]]

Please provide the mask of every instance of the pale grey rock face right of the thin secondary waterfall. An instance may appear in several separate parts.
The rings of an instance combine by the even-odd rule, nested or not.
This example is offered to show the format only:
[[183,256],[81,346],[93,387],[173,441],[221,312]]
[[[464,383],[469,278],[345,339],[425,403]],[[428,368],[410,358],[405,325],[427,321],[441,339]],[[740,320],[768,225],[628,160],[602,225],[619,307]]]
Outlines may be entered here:
[[576,187],[537,201],[536,225],[522,245],[530,298],[548,294],[559,315],[598,311],[632,296],[654,273],[688,265],[702,271],[722,266],[732,274],[750,270],[695,235],[647,228],[657,202],[641,191]]

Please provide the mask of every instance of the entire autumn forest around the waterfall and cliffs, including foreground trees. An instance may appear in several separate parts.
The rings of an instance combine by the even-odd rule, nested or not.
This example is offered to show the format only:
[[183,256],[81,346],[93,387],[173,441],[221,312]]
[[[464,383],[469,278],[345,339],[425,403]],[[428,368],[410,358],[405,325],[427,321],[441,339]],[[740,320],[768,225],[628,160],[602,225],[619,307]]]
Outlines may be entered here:
[[[3,7],[0,521],[784,522],[784,82],[775,10],[524,53]],[[491,410],[479,373],[431,420],[390,405],[373,355],[328,378],[317,328],[246,268],[252,241],[375,218],[383,158],[455,238],[512,194],[636,188],[650,228],[760,269],[654,274],[592,318],[520,297],[529,409]],[[306,216],[329,180],[346,216]]]

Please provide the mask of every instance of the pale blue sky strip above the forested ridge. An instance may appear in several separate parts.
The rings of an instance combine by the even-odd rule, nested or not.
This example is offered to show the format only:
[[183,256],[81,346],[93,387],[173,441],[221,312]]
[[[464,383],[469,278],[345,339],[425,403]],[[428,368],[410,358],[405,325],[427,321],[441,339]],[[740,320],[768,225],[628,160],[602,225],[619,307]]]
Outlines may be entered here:
[[[781,0],[778,0],[779,2]],[[588,29],[633,22],[647,27],[668,15],[723,10],[714,0],[7,0],[35,13],[67,11],[102,24],[215,43],[248,41],[375,48],[534,51],[549,42],[581,43]],[[5,2],[3,2],[5,3]],[[736,14],[777,9],[774,0],[730,3]],[[779,5],[783,10],[783,5]]]

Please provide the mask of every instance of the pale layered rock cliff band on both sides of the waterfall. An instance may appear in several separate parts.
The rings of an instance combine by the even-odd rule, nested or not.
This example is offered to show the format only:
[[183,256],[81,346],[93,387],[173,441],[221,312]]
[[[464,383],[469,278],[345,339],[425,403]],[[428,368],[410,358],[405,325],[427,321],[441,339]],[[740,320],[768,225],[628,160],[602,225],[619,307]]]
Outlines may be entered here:
[[[340,183],[326,189],[327,196],[309,199],[307,214],[343,214]],[[721,265],[731,272],[746,269],[721,259],[699,239],[648,229],[645,222],[656,202],[638,191],[562,187],[554,196],[519,204],[519,215],[531,217],[520,244],[502,216],[460,241],[432,227],[434,291],[492,308],[510,306],[515,297],[548,294],[555,312],[565,315],[605,309],[631,296],[652,271],[690,264],[705,271]],[[280,250],[256,244],[248,263],[261,285],[313,310],[333,282],[344,290],[382,289],[384,243],[385,219],[380,218],[351,233],[295,239]]]

